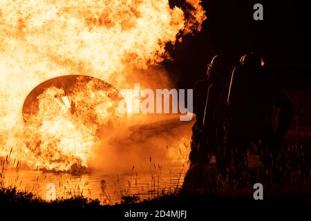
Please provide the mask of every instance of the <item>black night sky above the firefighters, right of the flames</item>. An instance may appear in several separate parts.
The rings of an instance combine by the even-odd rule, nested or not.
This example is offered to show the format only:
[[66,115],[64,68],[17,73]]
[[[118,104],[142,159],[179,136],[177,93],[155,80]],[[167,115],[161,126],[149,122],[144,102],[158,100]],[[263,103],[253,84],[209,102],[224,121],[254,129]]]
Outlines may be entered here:
[[[283,88],[311,88],[310,14],[307,1],[203,0],[207,21],[202,31],[169,48],[173,63],[164,63],[180,88],[205,77],[210,59],[229,53],[238,61],[258,52],[271,80]],[[180,1],[171,1],[178,5]],[[254,21],[253,6],[263,4],[264,20]]]

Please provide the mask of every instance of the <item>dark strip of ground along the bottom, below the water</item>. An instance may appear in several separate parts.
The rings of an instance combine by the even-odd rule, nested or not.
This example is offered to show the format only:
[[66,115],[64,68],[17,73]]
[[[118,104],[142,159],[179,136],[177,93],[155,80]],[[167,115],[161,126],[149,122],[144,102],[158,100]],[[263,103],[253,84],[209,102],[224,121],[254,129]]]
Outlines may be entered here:
[[[130,202],[102,206],[97,200],[82,196],[46,202],[32,193],[19,192],[16,189],[0,189],[0,214],[22,218],[45,220],[46,218],[90,218],[93,220],[144,220],[144,218],[125,218],[126,212],[149,212],[145,220],[209,220],[220,218],[271,218],[272,215],[310,214],[310,189],[269,189],[265,190],[264,200],[254,200],[253,189],[232,189],[226,191],[208,191],[198,193],[179,192],[162,195],[153,200]],[[156,211],[187,211],[187,218],[155,218]],[[252,213],[249,217],[247,214]],[[43,215],[43,216],[42,216]],[[2,219],[1,219],[2,220]],[[71,219],[70,219],[71,220]],[[308,216],[305,220],[309,220]]]

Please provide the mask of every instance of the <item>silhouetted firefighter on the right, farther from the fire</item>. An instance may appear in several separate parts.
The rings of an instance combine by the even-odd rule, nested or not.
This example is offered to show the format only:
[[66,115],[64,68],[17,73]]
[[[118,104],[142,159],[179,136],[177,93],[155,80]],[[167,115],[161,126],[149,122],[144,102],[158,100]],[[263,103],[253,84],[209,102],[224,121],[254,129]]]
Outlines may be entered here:
[[[227,130],[236,178],[247,169],[247,150],[260,157],[274,177],[284,165],[281,156],[283,137],[292,121],[292,104],[281,90],[272,86],[263,74],[263,59],[254,53],[241,57],[234,68],[227,97]],[[279,107],[277,126],[273,122],[273,106]]]

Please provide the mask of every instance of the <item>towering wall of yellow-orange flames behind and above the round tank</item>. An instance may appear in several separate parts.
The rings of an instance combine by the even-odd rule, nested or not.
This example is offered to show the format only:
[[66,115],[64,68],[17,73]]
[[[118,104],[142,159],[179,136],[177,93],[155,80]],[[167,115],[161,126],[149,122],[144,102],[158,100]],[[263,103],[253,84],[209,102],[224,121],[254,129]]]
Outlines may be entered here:
[[134,68],[169,58],[165,44],[200,30],[205,20],[200,0],[186,2],[183,11],[168,0],[1,1],[0,156],[13,148],[15,157],[36,165],[25,146],[21,108],[42,81],[91,75],[124,88]]

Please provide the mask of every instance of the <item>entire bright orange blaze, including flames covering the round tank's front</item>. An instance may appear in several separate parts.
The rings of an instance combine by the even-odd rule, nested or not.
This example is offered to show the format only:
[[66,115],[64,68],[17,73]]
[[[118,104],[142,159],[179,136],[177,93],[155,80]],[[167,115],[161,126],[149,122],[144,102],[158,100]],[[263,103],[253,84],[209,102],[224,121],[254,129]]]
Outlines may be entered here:
[[168,0],[1,1],[0,157],[13,149],[12,157],[32,168],[87,167],[113,115],[106,91],[94,90],[97,80],[77,84],[70,97],[66,88],[51,85],[38,95],[39,110],[25,123],[26,96],[61,75],[89,75],[126,87],[134,68],[169,58],[167,42],[200,30],[200,0],[186,3],[183,11]]

